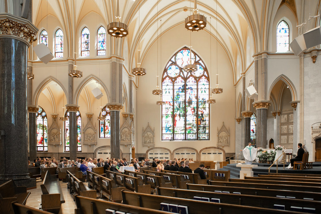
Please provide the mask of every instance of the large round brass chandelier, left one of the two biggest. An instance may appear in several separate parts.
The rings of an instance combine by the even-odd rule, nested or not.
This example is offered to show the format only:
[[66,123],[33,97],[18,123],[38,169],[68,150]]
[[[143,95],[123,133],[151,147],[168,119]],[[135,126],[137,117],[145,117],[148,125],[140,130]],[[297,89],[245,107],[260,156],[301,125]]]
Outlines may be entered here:
[[123,23],[120,22],[120,18],[119,17],[119,0],[117,0],[117,13],[115,16],[115,22],[110,22],[107,26],[108,30],[108,34],[113,36],[113,37],[126,37],[128,35],[128,26]]

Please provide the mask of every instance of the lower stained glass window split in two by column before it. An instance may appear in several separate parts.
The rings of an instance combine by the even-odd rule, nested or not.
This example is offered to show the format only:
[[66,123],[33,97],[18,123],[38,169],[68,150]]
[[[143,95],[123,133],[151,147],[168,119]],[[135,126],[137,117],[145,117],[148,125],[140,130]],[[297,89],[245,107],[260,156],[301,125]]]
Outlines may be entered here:
[[[65,121],[65,151],[69,151],[69,112],[65,113],[67,120]],[[81,115],[80,112],[76,112],[77,119],[77,151],[81,152]]]

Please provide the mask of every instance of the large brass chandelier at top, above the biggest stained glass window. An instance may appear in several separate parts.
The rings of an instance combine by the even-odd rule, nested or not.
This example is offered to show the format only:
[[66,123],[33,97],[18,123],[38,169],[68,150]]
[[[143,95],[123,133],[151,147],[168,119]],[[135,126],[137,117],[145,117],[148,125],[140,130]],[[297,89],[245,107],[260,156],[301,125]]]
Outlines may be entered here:
[[196,8],[196,0],[194,1],[193,15],[187,16],[185,19],[185,28],[187,30],[202,30],[206,27],[206,17],[201,14],[197,14],[199,10]]

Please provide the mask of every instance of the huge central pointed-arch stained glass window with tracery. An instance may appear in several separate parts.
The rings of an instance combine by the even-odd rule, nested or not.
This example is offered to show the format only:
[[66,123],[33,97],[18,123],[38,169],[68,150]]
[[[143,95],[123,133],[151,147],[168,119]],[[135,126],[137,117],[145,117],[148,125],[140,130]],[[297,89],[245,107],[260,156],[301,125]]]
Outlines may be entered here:
[[[189,55],[198,70],[183,71]],[[162,140],[209,140],[209,78],[202,60],[188,48],[179,50],[162,76]]]

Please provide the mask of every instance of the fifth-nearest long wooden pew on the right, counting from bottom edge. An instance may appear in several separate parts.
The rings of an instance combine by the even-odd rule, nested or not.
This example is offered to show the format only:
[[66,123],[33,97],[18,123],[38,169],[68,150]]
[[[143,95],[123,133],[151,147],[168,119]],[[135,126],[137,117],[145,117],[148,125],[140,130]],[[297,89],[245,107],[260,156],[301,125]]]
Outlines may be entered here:
[[[249,181],[249,180],[244,180]],[[210,185],[214,186],[235,186],[235,187],[249,187],[259,189],[275,189],[275,190],[293,190],[293,185],[282,185],[282,184],[257,184],[257,183],[242,183],[242,182],[222,182],[222,181],[210,181]],[[321,192],[321,187],[317,186],[295,186],[296,191],[302,192]]]

